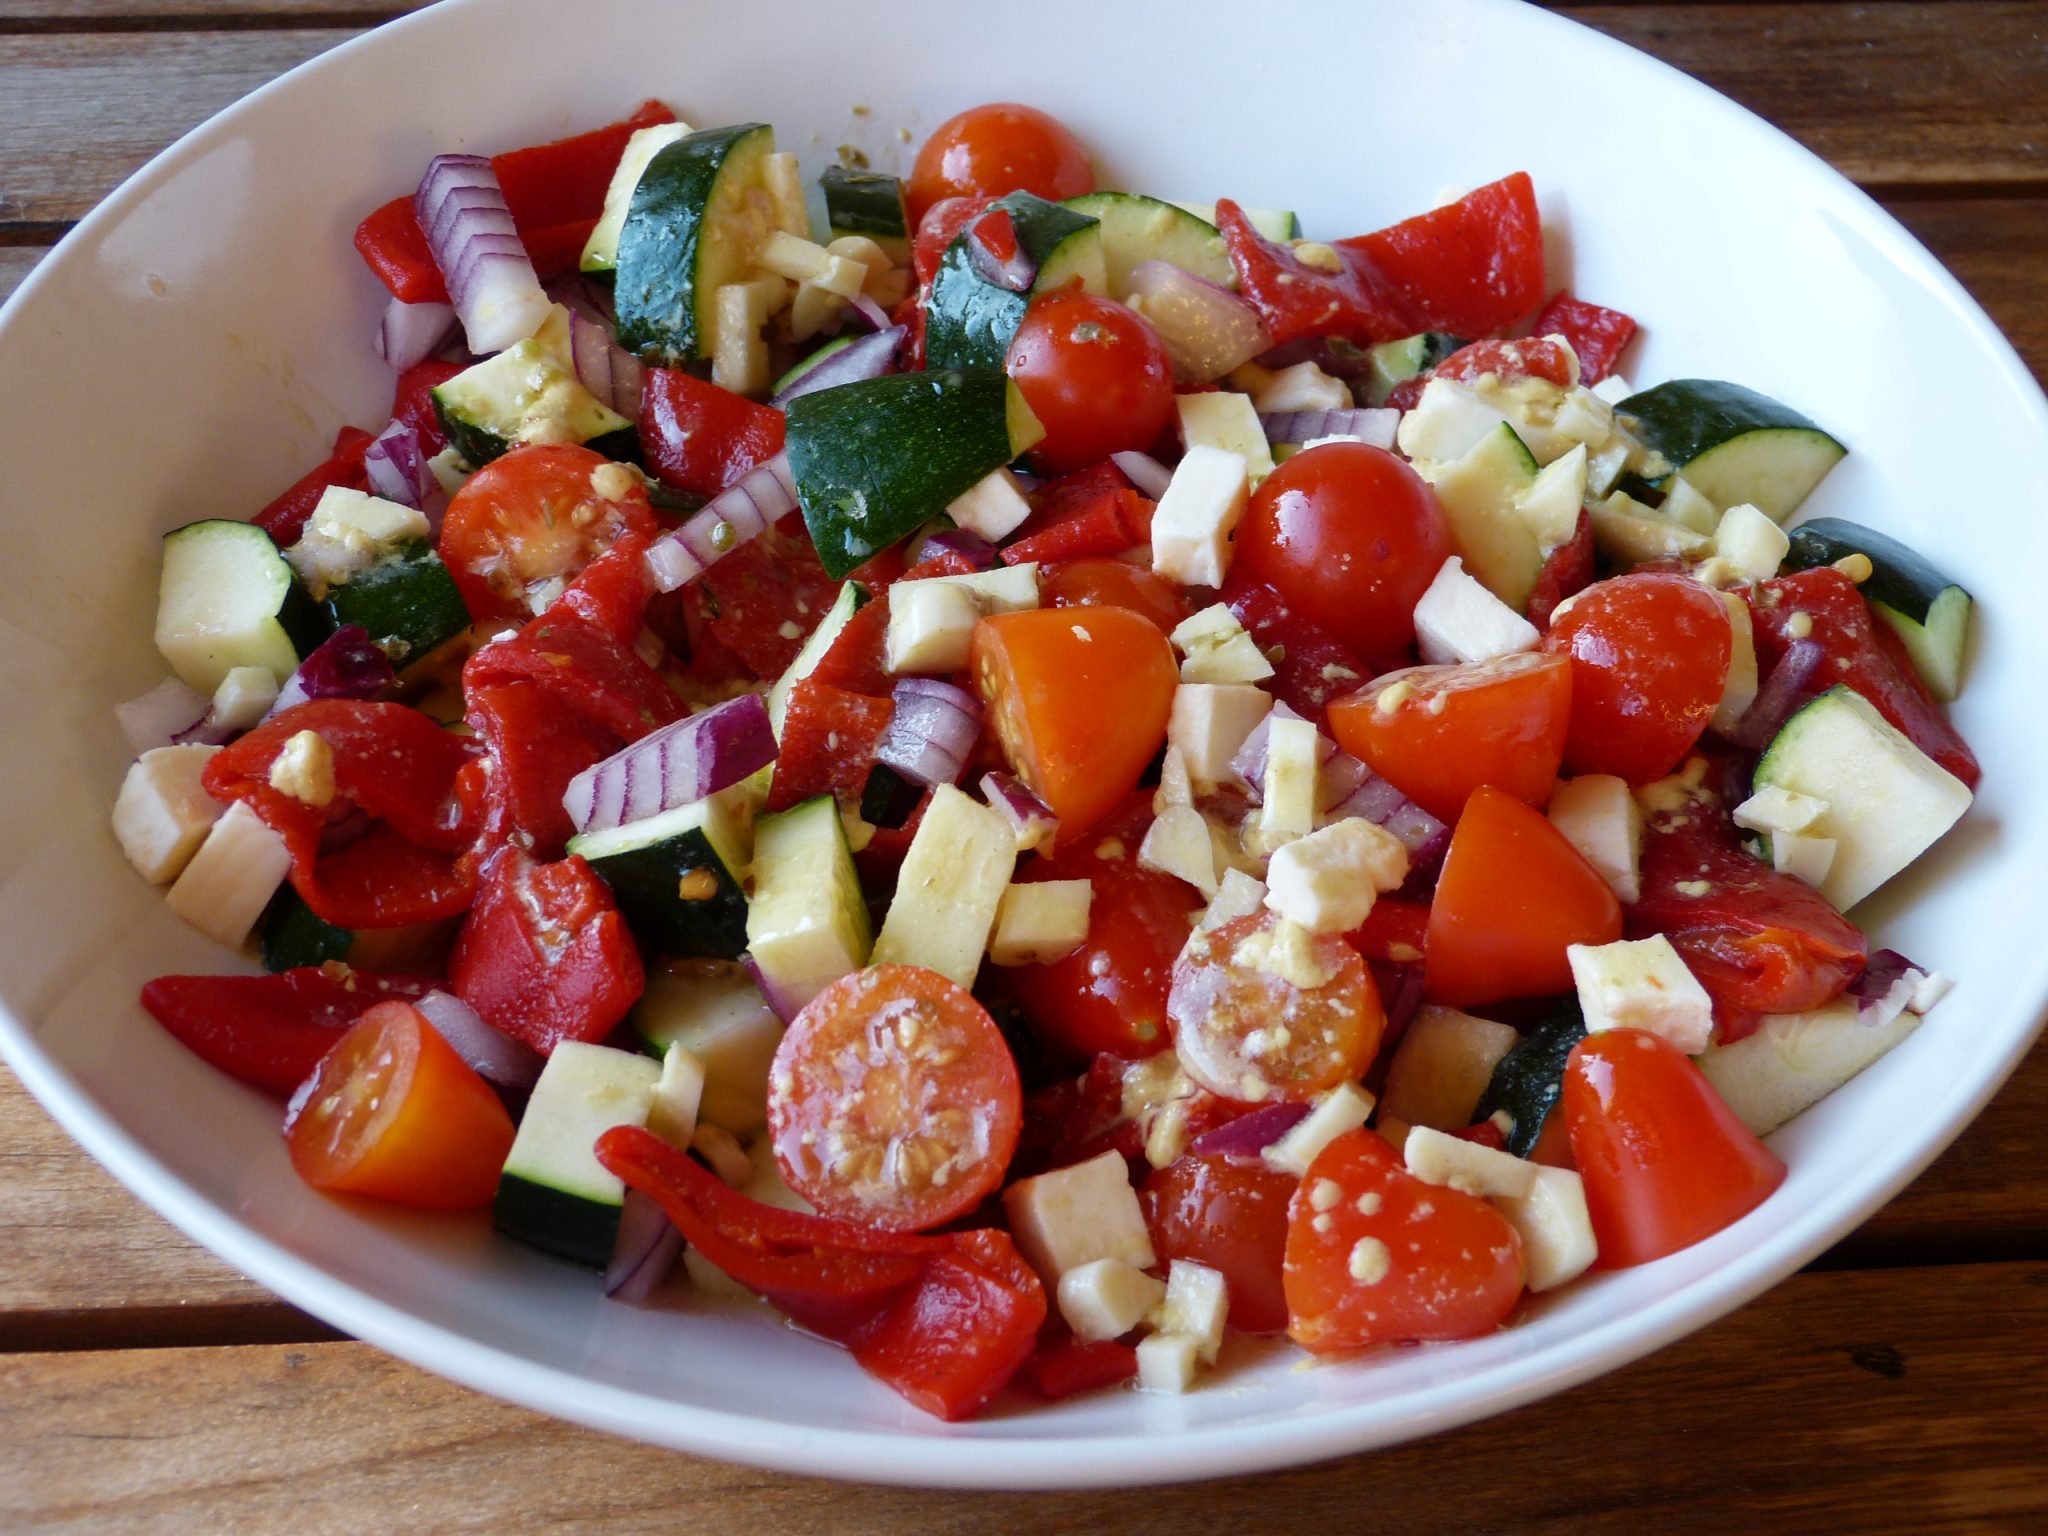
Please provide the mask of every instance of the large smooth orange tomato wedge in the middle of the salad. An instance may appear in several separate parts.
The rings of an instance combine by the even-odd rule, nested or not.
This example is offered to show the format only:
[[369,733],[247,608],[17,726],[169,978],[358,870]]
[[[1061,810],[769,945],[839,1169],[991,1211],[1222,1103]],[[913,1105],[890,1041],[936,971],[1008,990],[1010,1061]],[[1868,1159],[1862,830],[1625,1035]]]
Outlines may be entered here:
[[1165,741],[1180,668],[1130,608],[1032,608],[975,625],[969,670],[1010,768],[1081,838]]

